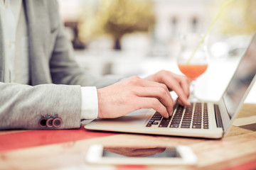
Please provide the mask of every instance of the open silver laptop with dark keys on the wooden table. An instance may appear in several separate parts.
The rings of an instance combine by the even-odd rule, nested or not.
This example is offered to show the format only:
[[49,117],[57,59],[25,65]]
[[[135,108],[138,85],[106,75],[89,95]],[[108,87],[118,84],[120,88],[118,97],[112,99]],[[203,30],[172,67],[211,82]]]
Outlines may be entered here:
[[87,130],[219,139],[230,129],[256,79],[256,33],[219,101],[174,106],[170,118],[140,109],[120,118],[95,119]]

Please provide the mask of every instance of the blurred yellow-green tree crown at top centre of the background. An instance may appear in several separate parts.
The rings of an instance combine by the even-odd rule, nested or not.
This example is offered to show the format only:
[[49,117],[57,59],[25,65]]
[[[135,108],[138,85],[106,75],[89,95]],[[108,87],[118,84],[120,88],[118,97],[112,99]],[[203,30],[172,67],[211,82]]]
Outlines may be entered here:
[[95,8],[85,7],[80,18],[79,36],[85,41],[102,35],[120,40],[127,33],[149,32],[156,22],[150,0],[100,0]]

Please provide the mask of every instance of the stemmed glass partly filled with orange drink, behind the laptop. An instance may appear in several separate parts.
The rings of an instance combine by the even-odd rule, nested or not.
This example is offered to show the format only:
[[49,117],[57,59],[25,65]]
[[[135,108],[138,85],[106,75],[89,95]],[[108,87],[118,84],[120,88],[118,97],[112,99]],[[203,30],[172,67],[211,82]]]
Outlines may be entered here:
[[191,80],[188,101],[199,101],[195,96],[195,83],[196,79],[206,72],[208,67],[208,51],[206,46],[208,37],[206,36],[203,39],[203,35],[187,33],[180,34],[179,38],[181,50],[177,58],[178,68]]

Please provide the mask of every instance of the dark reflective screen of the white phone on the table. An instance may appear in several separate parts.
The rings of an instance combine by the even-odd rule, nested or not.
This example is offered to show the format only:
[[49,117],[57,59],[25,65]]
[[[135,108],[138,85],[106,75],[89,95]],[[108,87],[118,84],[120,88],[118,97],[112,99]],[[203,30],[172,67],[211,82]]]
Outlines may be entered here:
[[104,147],[102,157],[181,158],[175,147]]

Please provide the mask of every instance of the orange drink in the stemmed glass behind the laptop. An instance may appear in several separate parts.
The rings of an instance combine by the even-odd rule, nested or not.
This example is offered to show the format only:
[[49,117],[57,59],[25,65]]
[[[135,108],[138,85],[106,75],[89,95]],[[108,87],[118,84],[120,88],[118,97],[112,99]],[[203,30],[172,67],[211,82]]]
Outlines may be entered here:
[[183,74],[191,80],[198,78],[203,72],[206,72],[207,64],[178,64],[178,68]]

